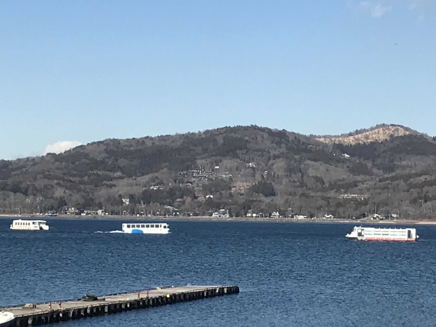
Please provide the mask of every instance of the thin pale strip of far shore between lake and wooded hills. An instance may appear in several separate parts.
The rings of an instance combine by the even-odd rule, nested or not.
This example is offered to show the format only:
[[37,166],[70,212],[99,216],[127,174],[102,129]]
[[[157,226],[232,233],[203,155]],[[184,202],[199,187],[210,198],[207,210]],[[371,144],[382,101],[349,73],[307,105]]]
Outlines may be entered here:
[[277,223],[331,223],[331,224],[386,224],[386,225],[436,225],[434,220],[348,220],[348,219],[292,219],[292,218],[249,218],[249,217],[239,217],[239,218],[219,218],[219,217],[209,217],[209,216],[196,216],[196,217],[149,217],[149,216],[78,216],[78,215],[57,215],[57,216],[44,216],[44,215],[11,215],[2,214],[0,219],[40,219],[40,220],[51,220],[51,219],[68,219],[68,220],[134,220],[134,221],[211,221],[211,222],[277,222]]

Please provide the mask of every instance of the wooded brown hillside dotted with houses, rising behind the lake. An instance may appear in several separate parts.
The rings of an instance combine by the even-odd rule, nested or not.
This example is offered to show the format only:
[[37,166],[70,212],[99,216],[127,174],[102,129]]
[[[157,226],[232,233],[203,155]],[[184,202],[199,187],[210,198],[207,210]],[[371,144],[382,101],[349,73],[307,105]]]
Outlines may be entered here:
[[332,139],[235,126],[0,160],[0,214],[434,217],[434,138],[379,125]]

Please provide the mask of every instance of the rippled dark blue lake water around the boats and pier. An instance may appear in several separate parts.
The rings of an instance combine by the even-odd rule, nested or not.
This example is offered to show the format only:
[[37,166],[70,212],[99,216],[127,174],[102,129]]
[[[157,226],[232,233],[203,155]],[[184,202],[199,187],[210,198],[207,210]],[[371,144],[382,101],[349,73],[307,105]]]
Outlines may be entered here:
[[405,243],[350,241],[350,224],[170,221],[170,234],[143,235],[104,233],[115,220],[50,219],[41,232],[11,221],[0,219],[0,306],[188,283],[241,290],[64,327],[434,326],[436,226]]

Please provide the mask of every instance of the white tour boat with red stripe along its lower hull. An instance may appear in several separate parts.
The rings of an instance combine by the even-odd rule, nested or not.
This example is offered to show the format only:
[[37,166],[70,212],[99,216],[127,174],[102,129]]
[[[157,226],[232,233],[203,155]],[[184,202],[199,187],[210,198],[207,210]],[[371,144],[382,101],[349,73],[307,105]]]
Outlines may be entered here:
[[415,241],[419,239],[415,228],[377,228],[354,226],[351,233],[345,237],[357,240],[387,240],[387,241]]

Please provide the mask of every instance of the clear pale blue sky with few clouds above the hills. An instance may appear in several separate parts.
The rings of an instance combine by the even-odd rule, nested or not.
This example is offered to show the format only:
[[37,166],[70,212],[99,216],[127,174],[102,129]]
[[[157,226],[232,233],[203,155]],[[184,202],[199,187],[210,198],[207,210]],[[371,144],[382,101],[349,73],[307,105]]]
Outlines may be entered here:
[[0,2],[0,158],[251,125],[436,135],[436,0]]

